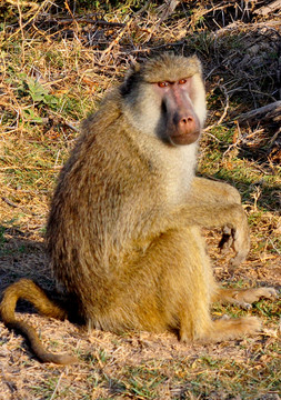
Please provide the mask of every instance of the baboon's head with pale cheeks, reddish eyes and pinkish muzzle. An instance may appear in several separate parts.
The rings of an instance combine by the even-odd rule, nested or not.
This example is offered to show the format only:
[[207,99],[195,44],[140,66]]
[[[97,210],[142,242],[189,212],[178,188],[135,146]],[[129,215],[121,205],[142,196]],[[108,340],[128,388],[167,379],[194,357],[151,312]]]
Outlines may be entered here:
[[150,61],[129,76],[123,86],[124,112],[133,127],[149,136],[172,146],[191,144],[207,112],[200,61],[194,57],[160,61]]

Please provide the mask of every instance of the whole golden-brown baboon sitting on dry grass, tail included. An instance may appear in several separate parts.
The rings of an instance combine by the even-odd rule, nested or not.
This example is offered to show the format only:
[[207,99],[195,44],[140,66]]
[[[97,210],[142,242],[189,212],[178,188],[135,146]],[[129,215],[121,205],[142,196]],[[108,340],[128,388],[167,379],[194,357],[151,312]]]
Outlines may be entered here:
[[[249,251],[249,229],[238,191],[195,178],[205,120],[201,63],[163,53],[136,64],[82,132],[62,169],[51,203],[47,247],[57,282],[89,328],[113,332],[177,332],[182,341],[221,341],[259,331],[254,317],[212,320],[212,301],[248,307],[272,288],[221,289],[201,227],[222,227],[232,264]],[[68,310],[31,280],[8,287],[3,322],[24,333],[37,357],[44,350],[31,327],[14,317],[19,298],[64,319]]]

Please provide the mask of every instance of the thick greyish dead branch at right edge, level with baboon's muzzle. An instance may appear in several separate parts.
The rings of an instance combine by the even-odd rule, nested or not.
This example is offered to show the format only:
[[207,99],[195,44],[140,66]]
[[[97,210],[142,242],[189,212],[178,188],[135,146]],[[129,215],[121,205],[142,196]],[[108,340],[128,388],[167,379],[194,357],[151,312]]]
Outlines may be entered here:
[[275,101],[273,103],[261,107],[257,110],[252,110],[241,114],[238,119],[240,126],[243,124],[254,124],[257,122],[279,122],[281,121],[281,101]]

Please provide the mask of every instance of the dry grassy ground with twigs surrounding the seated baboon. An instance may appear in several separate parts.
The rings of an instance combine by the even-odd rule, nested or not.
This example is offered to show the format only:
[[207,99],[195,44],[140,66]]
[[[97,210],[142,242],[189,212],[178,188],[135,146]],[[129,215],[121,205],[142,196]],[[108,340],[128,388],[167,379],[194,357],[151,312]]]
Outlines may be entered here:
[[[131,62],[167,50],[203,62],[209,117],[199,173],[235,186],[249,216],[251,251],[235,270],[231,253],[217,249],[219,232],[204,231],[214,273],[225,286],[280,290],[280,112],[241,118],[281,100],[280,11],[280,2],[251,0],[0,1],[1,291],[20,277],[53,288],[46,217],[79,121]],[[280,399],[280,300],[250,311],[217,304],[214,317],[260,317],[263,332],[187,346],[168,333],[89,334],[22,303],[19,316],[49,349],[80,363],[42,364],[0,323],[0,399]]]

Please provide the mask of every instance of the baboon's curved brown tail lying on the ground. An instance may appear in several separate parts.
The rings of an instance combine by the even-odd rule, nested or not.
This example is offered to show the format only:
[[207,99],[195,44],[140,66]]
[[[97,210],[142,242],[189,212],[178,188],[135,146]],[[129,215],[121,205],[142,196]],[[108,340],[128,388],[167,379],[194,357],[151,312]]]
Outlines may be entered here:
[[3,299],[0,304],[0,316],[8,328],[14,329],[22,333],[28,341],[36,356],[43,362],[54,362],[58,364],[69,364],[78,360],[68,354],[53,354],[48,352],[36,330],[24,321],[17,320],[14,309],[19,299],[31,302],[37,310],[47,317],[63,320],[68,317],[66,310],[58,307],[50,300],[46,292],[30,279],[20,279],[18,282],[9,286],[3,293]]

